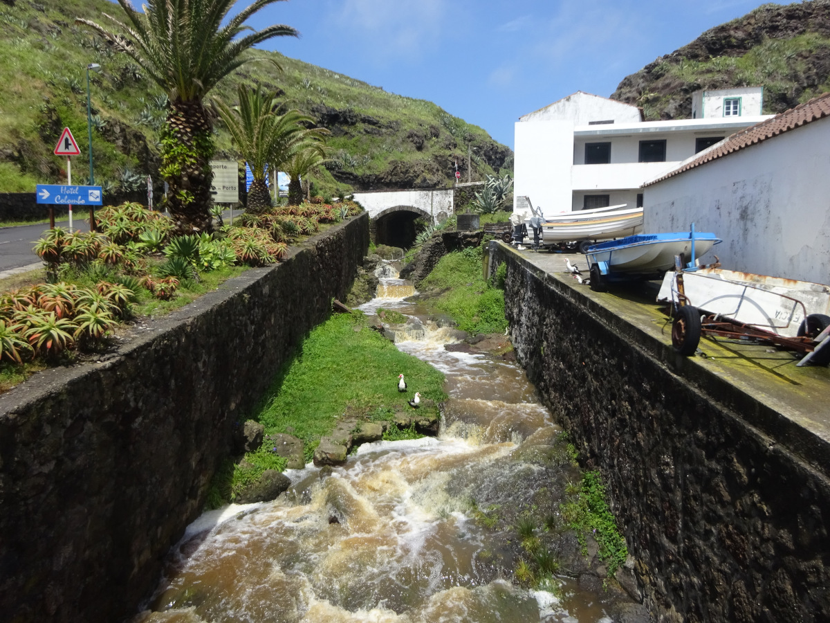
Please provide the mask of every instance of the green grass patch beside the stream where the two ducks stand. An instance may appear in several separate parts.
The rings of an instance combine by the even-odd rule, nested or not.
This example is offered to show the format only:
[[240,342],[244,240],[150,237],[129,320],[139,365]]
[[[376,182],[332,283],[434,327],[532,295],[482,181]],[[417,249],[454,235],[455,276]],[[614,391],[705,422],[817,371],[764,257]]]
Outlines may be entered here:
[[[422,400],[446,398],[441,372],[398,351],[366,326],[362,314],[337,314],[305,338],[254,419],[269,434],[291,426],[305,444],[314,444],[347,411],[368,416],[408,409],[412,395],[398,393],[398,374],[406,376],[410,390],[420,392]],[[425,415],[427,410],[422,408]]]

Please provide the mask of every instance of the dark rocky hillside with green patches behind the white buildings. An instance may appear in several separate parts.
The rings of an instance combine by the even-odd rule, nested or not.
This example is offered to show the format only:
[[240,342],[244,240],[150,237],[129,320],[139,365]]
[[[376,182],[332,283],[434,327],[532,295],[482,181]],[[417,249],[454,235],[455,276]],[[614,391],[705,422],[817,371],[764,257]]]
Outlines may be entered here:
[[611,96],[650,120],[691,117],[698,89],[764,86],[764,113],[830,91],[830,2],[764,4],[626,76]]

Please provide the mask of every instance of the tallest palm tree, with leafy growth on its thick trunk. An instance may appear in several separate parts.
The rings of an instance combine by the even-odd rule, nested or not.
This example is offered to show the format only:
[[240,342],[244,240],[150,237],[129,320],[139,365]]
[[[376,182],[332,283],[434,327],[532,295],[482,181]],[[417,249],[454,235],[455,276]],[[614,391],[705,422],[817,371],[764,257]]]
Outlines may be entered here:
[[[118,0],[129,25],[107,15],[120,32],[109,32],[95,22],[77,19],[131,56],[166,93],[170,101],[162,130],[162,165],[168,182],[168,208],[177,233],[207,231],[214,151],[212,122],[204,98],[223,77],[241,66],[250,47],[272,37],[296,37],[294,28],[274,25],[252,30],[245,22],[262,7],[280,0],[255,0],[227,19],[236,0],[147,0],[144,12],[129,0]],[[227,23],[222,25],[223,22]]]

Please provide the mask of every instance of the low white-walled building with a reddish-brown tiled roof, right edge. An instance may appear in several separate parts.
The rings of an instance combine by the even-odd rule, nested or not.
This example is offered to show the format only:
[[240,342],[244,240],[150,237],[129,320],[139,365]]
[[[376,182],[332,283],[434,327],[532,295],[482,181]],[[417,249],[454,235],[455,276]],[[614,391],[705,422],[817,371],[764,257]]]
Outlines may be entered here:
[[730,136],[643,188],[648,233],[713,232],[730,270],[830,284],[830,94]]

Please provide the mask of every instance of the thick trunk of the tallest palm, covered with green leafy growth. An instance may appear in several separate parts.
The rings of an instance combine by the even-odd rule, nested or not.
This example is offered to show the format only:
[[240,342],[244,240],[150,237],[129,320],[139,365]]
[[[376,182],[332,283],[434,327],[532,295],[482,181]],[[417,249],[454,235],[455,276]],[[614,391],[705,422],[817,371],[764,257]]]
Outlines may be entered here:
[[162,136],[160,172],[177,234],[212,231],[212,123],[200,101],[173,101]]

